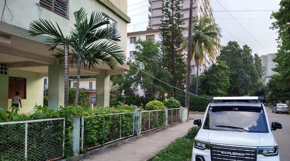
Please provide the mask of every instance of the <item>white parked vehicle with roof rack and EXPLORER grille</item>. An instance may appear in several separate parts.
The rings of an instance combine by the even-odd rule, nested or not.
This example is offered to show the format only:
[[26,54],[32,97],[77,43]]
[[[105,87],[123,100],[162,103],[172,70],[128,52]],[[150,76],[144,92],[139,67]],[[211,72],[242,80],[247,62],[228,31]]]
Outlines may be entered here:
[[277,142],[263,103],[264,97],[210,97],[195,137],[192,161],[280,161]]

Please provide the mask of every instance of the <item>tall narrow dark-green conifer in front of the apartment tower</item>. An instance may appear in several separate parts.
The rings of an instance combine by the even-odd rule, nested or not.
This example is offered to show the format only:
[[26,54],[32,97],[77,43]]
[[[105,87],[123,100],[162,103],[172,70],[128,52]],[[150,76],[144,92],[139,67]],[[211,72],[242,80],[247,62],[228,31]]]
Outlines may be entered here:
[[[162,25],[160,27],[160,37],[163,45],[162,66],[172,75],[170,85],[184,89],[186,64],[184,62],[184,55],[179,51],[182,43],[182,25],[184,24],[180,1],[163,1],[162,7],[162,13],[164,14],[164,19],[161,20]],[[177,89],[173,89],[173,92],[176,94]]]

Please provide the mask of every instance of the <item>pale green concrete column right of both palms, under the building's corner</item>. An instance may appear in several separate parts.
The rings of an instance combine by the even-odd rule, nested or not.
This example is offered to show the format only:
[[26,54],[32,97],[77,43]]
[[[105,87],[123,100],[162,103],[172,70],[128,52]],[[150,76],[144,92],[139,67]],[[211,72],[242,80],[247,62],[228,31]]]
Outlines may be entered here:
[[109,106],[110,101],[110,75],[106,70],[96,75],[96,105],[101,107]]

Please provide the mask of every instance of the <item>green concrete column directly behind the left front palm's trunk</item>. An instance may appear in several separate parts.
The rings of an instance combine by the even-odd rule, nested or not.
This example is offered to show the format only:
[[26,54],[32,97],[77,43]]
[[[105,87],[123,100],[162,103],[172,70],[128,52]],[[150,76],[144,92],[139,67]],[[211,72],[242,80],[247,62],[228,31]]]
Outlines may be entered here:
[[58,109],[64,105],[64,66],[48,66],[48,108]]

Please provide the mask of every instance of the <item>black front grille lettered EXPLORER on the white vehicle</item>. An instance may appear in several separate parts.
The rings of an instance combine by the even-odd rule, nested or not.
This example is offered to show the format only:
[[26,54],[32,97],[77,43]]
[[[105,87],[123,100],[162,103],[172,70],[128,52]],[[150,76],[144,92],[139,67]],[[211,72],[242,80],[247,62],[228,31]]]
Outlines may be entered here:
[[211,161],[256,161],[257,149],[211,144]]

